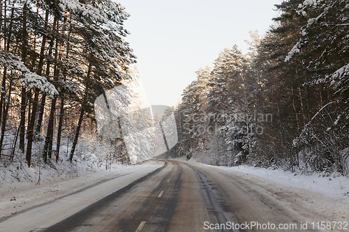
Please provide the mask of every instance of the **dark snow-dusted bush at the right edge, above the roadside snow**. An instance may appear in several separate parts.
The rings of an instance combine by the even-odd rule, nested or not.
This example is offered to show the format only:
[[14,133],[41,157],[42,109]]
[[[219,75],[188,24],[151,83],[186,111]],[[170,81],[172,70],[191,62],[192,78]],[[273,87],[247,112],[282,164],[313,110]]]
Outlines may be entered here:
[[300,169],[339,173],[348,170],[346,162],[349,156],[344,152],[348,150],[348,130],[336,126],[339,120],[335,118],[339,114],[336,105],[337,102],[329,102],[322,107],[293,141],[293,146],[301,149]]

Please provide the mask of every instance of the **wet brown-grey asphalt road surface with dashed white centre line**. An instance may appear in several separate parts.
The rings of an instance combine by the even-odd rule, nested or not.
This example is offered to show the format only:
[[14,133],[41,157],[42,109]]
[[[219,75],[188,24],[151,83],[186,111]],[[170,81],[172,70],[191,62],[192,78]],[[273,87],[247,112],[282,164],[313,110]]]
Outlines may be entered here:
[[311,231],[301,229],[304,218],[246,180],[205,164],[164,163],[40,231]]

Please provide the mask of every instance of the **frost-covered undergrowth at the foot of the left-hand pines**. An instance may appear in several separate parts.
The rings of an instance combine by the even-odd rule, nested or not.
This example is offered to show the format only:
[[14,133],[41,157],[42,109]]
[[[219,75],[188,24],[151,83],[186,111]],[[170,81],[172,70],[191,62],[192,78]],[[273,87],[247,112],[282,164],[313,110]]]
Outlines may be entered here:
[[[96,134],[84,132],[77,145],[77,153],[73,162],[69,162],[68,154],[71,141],[67,140],[64,134],[64,141],[61,144],[61,154],[58,162],[44,163],[40,159],[43,141],[36,141],[33,148],[33,159],[31,167],[25,164],[24,155],[15,155],[13,160],[0,162],[0,185],[4,183],[35,183],[42,184],[59,178],[67,180],[82,176],[84,173],[95,172],[114,167],[121,164],[119,159],[120,150],[110,141],[103,141]],[[19,153],[20,154],[20,153]]]

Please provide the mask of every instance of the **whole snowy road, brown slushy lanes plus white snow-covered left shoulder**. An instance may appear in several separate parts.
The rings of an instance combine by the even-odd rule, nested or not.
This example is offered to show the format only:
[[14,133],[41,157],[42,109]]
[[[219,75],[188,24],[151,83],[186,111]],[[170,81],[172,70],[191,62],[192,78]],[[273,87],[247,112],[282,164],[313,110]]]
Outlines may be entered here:
[[[321,231],[312,228],[311,209],[292,203],[296,196],[285,202],[285,193],[209,165],[164,163],[126,187],[116,178],[10,217],[0,231]],[[96,199],[105,188],[112,194]]]

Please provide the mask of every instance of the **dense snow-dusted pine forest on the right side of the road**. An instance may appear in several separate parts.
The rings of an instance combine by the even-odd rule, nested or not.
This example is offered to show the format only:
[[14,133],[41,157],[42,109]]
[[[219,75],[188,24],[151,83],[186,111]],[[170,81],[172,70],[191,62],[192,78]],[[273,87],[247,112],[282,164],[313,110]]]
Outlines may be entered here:
[[177,106],[170,155],[346,173],[349,157],[349,4],[289,0],[250,53],[224,49],[200,68]]

